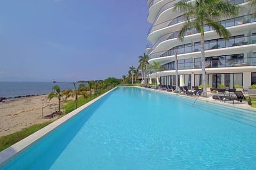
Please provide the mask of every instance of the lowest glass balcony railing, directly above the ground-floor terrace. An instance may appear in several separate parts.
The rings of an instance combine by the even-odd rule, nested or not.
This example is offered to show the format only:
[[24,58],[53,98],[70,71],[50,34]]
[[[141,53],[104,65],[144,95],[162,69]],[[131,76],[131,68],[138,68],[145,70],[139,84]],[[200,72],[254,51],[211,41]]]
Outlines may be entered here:
[[[164,70],[175,70],[175,64],[171,67],[164,67]],[[237,67],[237,66],[255,66],[256,57],[229,58],[228,60],[212,60],[205,62],[206,69],[220,67]],[[201,69],[201,62],[183,62],[178,61],[178,70]]]

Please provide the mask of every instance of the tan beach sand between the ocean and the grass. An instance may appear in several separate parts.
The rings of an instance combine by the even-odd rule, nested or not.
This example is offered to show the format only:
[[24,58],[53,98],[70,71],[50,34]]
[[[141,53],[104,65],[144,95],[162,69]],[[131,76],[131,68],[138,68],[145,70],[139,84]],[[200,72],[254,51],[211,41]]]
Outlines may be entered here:
[[[51,108],[49,105],[52,104]],[[48,106],[47,106],[48,105]],[[0,103],[0,137],[27,128],[33,124],[54,121],[58,118],[42,118],[58,109],[58,99],[47,100],[47,95],[26,97]]]

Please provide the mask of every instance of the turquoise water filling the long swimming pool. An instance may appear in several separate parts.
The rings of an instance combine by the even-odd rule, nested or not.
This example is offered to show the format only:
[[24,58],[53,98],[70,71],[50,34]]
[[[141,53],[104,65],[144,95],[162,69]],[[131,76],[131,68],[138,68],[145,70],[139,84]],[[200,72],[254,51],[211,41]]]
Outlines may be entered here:
[[193,102],[117,88],[2,169],[256,169],[255,113]]

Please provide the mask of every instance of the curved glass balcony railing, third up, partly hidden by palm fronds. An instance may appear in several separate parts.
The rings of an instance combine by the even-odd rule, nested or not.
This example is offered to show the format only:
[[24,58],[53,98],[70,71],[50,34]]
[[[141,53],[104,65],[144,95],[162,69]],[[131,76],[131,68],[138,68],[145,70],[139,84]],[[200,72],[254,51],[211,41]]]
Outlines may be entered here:
[[[219,23],[221,25],[223,25],[224,27],[228,28],[228,27],[233,27],[235,25],[241,25],[241,24],[251,23],[251,22],[255,22],[255,21],[256,21],[256,19],[253,17],[253,14],[250,14],[250,15],[238,16],[237,18],[233,18],[233,19],[219,21]],[[213,30],[213,28],[209,27],[209,25],[204,25],[205,32],[211,31],[211,30]],[[187,31],[185,36],[193,35],[196,33],[198,33],[198,31],[195,30],[194,28],[191,28],[189,31]],[[171,32],[171,33],[167,33],[166,35],[163,35],[151,47],[151,49],[149,50],[149,54],[151,52],[153,52],[153,50],[163,41],[173,39],[173,38],[178,38],[178,35],[179,35],[179,31],[175,31],[175,32]],[[152,54],[150,54],[150,56],[151,55]]]

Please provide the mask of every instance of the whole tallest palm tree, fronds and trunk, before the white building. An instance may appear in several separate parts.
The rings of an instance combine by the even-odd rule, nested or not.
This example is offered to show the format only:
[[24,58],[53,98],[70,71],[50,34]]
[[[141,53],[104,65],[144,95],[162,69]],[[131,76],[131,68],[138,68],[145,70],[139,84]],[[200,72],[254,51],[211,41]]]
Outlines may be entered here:
[[218,36],[229,39],[231,33],[217,21],[222,18],[235,17],[239,7],[223,0],[197,0],[195,3],[180,1],[174,5],[175,12],[185,13],[185,23],[179,32],[179,39],[183,41],[186,33],[195,28],[201,32],[201,60],[203,77],[203,96],[206,97],[205,54],[204,54],[204,25],[212,27]]

